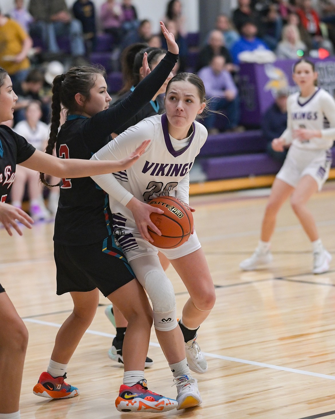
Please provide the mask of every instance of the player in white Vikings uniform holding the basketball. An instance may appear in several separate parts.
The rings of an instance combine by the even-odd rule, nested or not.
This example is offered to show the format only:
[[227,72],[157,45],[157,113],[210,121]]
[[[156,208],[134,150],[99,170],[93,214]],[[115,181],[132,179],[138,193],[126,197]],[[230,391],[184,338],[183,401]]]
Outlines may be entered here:
[[162,269],[157,248],[149,243],[152,238],[148,226],[153,228],[154,224],[145,210],[141,212],[138,207],[143,208],[143,202],[164,195],[176,196],[188,204],[188,173],[207,137],[205,127],[194,121],[205,108],[204,97],[204,84],[198,76],[178,74],[166,89],[166,114],[151,116],[130,127],[92,157],[94,160],[114,160],[142,138],[151,139],[134,170],[93,179],[109,194],[115,238],[152,301],[157,338],[177,385],[177,409],[201,403],[187,361],[193,370],[207,370],[206,360],[195,339],[196,330],[214,306],[214,285],[195,233],[178,248],[160,249],[170,259],[191,296],[183,308],[180,326],[188,329],[194,340],[189,345],[192,350],[186,361],[183,334],[176,319],[173,286]]

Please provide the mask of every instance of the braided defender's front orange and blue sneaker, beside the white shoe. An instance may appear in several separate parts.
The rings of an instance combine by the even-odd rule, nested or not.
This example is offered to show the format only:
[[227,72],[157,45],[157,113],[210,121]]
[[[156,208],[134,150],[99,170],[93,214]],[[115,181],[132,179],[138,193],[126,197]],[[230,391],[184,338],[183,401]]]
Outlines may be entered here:
[[147,380],[141,380],[131,387],[122,384],[115,406],[119,412],[159,413],[175,409],[178,402],[173,398],[153,393],[147,388]]

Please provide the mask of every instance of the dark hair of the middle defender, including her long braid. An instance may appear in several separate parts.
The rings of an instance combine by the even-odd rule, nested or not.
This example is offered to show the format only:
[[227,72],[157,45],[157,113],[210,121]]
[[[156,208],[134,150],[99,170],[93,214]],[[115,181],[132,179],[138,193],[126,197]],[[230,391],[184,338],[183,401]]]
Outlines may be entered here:
[[[106,72],[102,66],[83,66],[72,67],[66,74],[60,74],[54,78],[52,83],[51,127],[48,144],[45,150],[46,153],[52,155],[54,152],[60,126],[62,107],[70,114],[80,111],[75,100],[75,95],[80,93],[86,98],[86,103],[90,99],[90,90],[93,88],[98,74],[103,75],[103,77],[106,76]],[[39,178],[46,186],[59,186],[58,184],[49,185],[44,178],[44,173],[40,172]]]

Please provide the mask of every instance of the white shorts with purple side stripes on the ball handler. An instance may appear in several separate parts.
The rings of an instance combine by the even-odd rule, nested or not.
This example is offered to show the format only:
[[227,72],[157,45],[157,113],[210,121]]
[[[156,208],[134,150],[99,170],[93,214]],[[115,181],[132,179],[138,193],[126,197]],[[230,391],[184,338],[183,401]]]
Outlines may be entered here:
[[196,232],[191,234],[186,243],[183,243],[181,246],[174,249],[157,248],[144,240],[138,232],[115,235],[115,240],[122,247],[127,261],[136,259],[139,256],[157,256],[158,251],[163,253],[168,259],[178,259],[201,248]]

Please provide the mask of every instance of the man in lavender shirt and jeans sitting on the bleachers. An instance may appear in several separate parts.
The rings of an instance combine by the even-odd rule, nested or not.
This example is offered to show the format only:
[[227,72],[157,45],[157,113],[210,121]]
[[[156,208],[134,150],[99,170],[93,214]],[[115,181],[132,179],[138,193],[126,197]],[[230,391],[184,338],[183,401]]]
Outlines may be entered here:
[[204,82],[206,99],[209,99],[206,106],[210,111],[205,119],[204,125],[209,134],[218,132],[215,125],[215,111],[222,111],[227,116],[227,127],[229,131],[239,129],[240,103],[237,87],[229,71],[225,70],[225,60],[221,55],[211,59],[210,65],[203,67],[198,76]]

